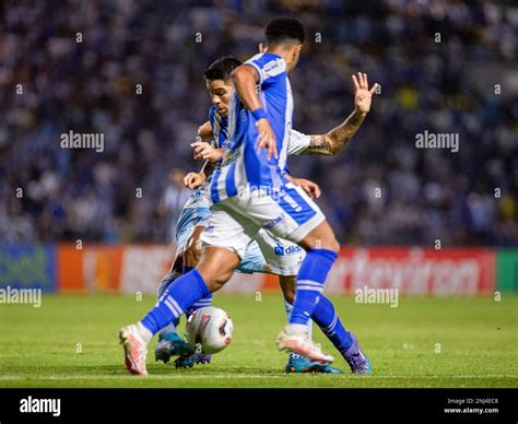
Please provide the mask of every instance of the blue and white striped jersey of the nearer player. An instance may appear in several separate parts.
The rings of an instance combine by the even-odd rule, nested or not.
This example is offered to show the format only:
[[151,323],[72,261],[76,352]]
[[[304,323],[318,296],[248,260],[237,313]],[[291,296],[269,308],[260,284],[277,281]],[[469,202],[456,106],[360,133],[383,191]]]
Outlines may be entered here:
[[258,94],[275,136],[279,158],[267,160],[266,150],[257,151],[256,120],[234,92],[228,107],[229,141],[211,185],[214,203],[243,189],[275,189],[287,181],[282,174],[286,166],[293,95],[286,62],[278,55],[263,52],[245,63],[259,73]]

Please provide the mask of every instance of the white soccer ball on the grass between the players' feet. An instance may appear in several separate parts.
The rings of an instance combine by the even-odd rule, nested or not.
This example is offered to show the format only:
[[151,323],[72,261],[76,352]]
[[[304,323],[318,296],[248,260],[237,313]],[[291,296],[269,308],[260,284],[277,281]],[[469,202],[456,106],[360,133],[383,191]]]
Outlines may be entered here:
[[189,317],[185,334],[191,346],[199,343],[202,353],[213,354],[231,343],[233,330],[234,323],[223,309],[207,306]]

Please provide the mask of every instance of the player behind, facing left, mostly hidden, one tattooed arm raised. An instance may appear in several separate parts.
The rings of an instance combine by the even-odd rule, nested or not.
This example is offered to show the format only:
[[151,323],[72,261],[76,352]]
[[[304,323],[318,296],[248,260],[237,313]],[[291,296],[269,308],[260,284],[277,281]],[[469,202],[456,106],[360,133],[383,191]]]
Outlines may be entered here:
[[[199,133],[203,134],[204,139],[215,138],[219,142],[216,142],[214,146],[211,146],[209,143],[193,143],[192,145],[196,146],[197,158],[205,158],[211,162],[217,162],[221,158],[221,150],[219,150],[217,146],[224,145],[226,142],[226,113],[229,94],[233,90],[229,74],[232,70],[239,64],[240,62],[237,59],[224,57],[217,59],[204,72],[207,87],[211,94],[213,106],[209,113],[210,121],[200,127]],[[370,95],[367,92],[367,87],[363,89],[358,85],[355,76],[353,78],[353,82],[355,83],[355,105],[357,109],[355,109],[344,122],[325,134],[306,136],[292,130],[289,140],[289,155],[335,154],[354,136],[365,114],[368,113],[370,108]],[[212,126],[214,126],[214,134],[212,133]],[[222,134],[225,134],[223,139],[221,138]],[[203,184],[205,184],[205,186],[203,186],[202,189],[198,189],[186,203],[179,219],[179,225],[177,226],[177,257],[181,257],[183,261],[175,262],[177,263],[177,269],[178,264],[183,263],[184,271],[196,267],[201,254],[199,236],[207,225],[208,221],[205,217],[210,213],[210,202],[209,199],[207,199],[208,193],[205,189],[205,173],[208,173],[208,164],[205,163],[200,173],[189,173],[186,176],[186,185],[188,187],[196,189]],[[298,181],[301,181],[301,179],[297,179],[297,184],[301,185]],[[306,191],[311,192],[310,181],[303,180],[303,184],[305,184]],[[319,195],[318,187],[315,189],[317,190],[317,195]],[[301,252],[302,248],[294,244],[286,244],[286,240],[274,238],[263,229],[259,232],[259,235],[260,236],[257,237],[259,244],[255,240],[249,245],[237,271],[245,273],[270,272],[278,274],[285,298],[286,314],[290,315],[294,295],[295,274],[298,271],[299,262],[304,259],[304,255]],[[165,275],[158,290],[158,297],[178,275],[179,273],[176,273],[174,270]],[[212,295],[199,301],[186,315],[190,315],[200,307],[209,306],[211,299]],[[196,363],[209,362],[209,355],[191,353],[192,348],[177,334],[177,325],[178,320],[158,333],[155,358],[166,363],[170,356],[179,354],[180,356],[175,361],[177,367],[192,366]],[[310,334],[310,321],[308,321],[308,330]],[[329,365],[311,362],[294,354],[290,354],[285,369],[287,373],[339,372]]]

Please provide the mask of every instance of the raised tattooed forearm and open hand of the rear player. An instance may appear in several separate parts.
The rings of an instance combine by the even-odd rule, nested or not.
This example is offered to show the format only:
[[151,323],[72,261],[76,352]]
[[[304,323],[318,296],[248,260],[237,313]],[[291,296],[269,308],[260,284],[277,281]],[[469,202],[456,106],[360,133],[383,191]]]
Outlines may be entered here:
[[310,136],[309,145],[301,154],[333,155],[340,152],[358,130],[370,110],[373,95],[378,84],[368,90],[367,74],[352,75],[354,83],[354,111],[338,127],[325,134]]

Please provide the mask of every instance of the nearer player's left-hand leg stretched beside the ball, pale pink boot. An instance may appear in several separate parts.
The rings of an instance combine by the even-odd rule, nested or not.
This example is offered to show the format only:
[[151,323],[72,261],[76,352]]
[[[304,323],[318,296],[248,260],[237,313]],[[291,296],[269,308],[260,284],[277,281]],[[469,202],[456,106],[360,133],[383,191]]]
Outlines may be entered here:
[[175,280],[141,321],[121,329],[119,339],[130,373],[148,375],[145,356],[153,334],[185,314],[197,301],[221,288],[244,256],[251,240],[250,234],[257,233],[252,222],[231,216],[222,203],[212,211],[210,226],[203,233],[207,247],[198,267]]

